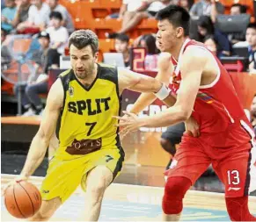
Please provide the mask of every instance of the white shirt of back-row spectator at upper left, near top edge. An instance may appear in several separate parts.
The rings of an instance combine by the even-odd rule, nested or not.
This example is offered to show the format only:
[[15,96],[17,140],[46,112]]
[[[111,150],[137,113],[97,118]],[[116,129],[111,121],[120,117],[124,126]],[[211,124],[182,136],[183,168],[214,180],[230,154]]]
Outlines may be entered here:
[[37,9],[35,5],[31,5],[28,10],[27,20],[33,25],[41,25],[42,23],[48,25],[50,20],[50,7],[48,4],[43,3],[40,10]]

